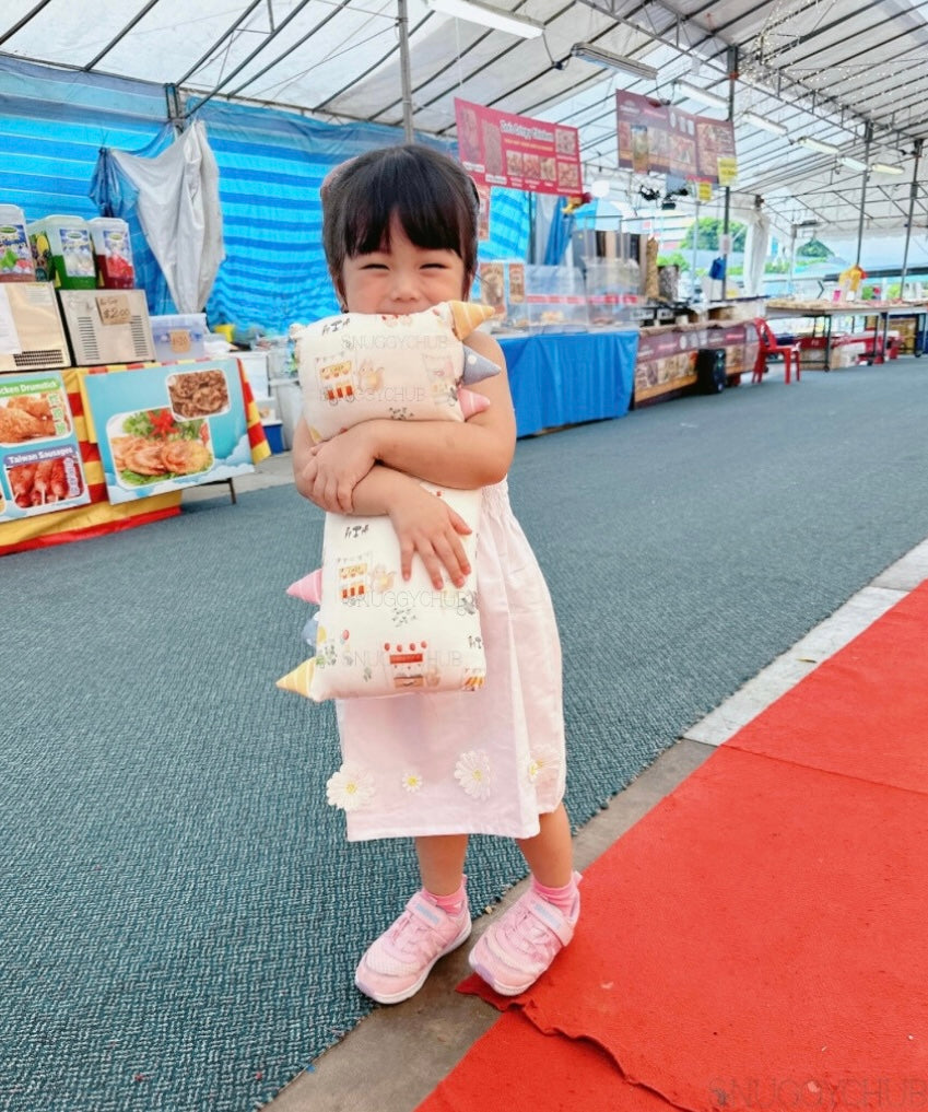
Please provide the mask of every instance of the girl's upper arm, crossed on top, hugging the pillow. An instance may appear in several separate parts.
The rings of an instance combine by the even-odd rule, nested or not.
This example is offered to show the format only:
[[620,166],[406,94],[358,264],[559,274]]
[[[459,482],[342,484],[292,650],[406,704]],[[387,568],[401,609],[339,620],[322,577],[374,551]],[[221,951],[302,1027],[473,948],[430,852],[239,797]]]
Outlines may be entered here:
[[[360,478],[380,461],[406,475],[441,486],[473,489],[506,476],[516,448],[516,415],[499,344],[472,332],[468,346],[492,359],[500,374],[470,389],[489,401],[489,409],[460,421],[362,421],[311,448],[303,466],[301,493],[326,509],[349,513]],[[308,436],[308,430],[307,430]]]

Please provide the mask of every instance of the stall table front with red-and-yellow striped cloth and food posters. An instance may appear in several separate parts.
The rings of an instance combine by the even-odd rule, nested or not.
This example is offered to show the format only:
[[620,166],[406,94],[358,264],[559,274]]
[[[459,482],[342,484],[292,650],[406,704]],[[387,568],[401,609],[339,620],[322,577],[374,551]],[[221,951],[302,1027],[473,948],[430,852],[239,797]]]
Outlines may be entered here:
[[[160,404],[178,375],[221,376],[224,413],[178,421]],[[48,417],[14,430],[18,413]],[[233,481],[270,454],[236,359],[0,375],[0,555],[171,517],[186,487]]]

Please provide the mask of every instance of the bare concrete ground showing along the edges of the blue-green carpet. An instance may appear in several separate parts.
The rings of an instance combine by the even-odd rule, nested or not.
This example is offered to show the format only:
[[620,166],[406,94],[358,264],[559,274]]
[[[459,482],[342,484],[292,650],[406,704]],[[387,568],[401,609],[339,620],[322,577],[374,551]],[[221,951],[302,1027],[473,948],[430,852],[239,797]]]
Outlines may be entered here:
[[[246,492],[291,483],[290,455],[272,456],[252,476],[236,479]],[[184,500],[228,497],[226,488],[200,487]],[[742,725],[817,665],[857,636],[928,578],[928,539],[859,590],[740,691],[692,726],[575,837],[582,871],[648,811],[673,791]],[[525,891],[516,885],[496,909]],[[378,1007],[341,1042],[290,1082],[265,1109],[270,1112],[411,1112],[499,1017],[476,996],[455,992],[470,974],[467,954],[489,921],[481,915],[468,944],[442,959],[422,990],[402,1004]],[[398,1069],[402,1063],[402,1069]]]

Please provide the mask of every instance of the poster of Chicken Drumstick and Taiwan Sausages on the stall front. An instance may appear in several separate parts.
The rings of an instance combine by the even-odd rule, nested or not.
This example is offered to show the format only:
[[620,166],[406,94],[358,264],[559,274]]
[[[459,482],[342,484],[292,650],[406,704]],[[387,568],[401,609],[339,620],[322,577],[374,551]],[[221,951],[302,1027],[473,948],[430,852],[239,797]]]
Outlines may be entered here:
[[0,375],[0,522],[89,502],[61,375]]

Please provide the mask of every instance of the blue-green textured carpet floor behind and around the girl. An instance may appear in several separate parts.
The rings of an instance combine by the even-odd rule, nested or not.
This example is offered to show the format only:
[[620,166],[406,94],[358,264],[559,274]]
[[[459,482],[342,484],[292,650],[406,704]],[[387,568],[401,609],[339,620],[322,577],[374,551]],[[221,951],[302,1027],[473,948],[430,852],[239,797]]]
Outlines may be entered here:
[[[519,444],[576,825],[928,535],[926,428],[904,359]],[[345,843],[331,708],[275,687],[321,523],[277,487],[0,559],[0,1109],[242,1112],[369,1010],[411,853]],[[522,872],[476,840],[472,907]]]

